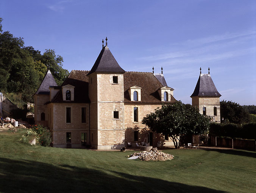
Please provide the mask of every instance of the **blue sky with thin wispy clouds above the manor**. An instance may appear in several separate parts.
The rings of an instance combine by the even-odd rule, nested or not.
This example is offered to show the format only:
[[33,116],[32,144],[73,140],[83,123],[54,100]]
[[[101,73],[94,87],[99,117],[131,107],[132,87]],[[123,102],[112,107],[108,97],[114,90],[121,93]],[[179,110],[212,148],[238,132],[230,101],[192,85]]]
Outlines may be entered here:
[[254,0],[1,0],[3,31],[42,53],[55,49],[63,68],[90,70],[102,39],[126,71],[161,73],[174,97],[192,102],[200,67],[222,95],[256,105]]

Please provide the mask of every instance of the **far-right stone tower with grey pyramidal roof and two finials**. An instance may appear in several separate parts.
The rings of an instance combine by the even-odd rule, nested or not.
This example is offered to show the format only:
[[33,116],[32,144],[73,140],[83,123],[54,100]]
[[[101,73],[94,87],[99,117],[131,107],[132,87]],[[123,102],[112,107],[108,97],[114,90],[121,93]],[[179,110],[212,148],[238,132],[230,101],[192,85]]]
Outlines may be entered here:
[[200,67],[197,85],[190,96],[192,98],[192,106],[198,107],[200,113],[210,116],[212,121],[220,122],[220,96],[212,81],[210,68],[208,68],[208,74],[202,74]]

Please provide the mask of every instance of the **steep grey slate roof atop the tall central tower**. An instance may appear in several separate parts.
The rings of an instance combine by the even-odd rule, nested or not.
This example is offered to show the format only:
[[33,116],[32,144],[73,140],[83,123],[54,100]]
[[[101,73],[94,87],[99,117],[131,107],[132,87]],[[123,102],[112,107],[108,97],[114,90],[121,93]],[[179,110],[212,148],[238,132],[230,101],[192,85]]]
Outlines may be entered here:
[[92,69],[87,74],[92,74],[93,72],[118,72],[118,73],[125,73],[119,64],[117,63],[116,59],[108,49],[108,47],[103,47],[100,54],[98,55],[97,60],[95,61]]

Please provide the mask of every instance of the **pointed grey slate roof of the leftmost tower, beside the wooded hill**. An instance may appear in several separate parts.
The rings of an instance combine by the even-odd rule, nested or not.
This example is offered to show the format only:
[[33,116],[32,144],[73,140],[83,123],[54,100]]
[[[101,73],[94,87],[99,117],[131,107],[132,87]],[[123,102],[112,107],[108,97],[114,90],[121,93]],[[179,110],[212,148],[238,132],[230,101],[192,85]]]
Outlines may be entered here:
[[58,86],[50,70],[45,74],[44,80],[39,86],[39,89],[37,89],[35,95],[50,95],[49,86]]

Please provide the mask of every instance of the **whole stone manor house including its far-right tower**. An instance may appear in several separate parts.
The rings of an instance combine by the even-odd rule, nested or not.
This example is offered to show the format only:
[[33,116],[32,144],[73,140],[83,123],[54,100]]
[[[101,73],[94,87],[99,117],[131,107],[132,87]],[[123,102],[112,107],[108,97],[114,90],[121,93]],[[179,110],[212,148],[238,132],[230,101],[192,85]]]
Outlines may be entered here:
[[[174,89],[167,86],[162,73],[125,72],[107,42],[102,47],[90,71],[72,70],[61,86],[48,70],[34,94],[35,123],[50,128],[53,147],[120,149],[143,143],[158,146],[159,141],[172,146],[168,136],[151,132],[141,120],[162,104],[174,103]],[[212,80],[200,74],[192,105],[204,113],[206,107],[207,115],[219,121],[219,93],[206,93],[201,88],[204,81]]]

